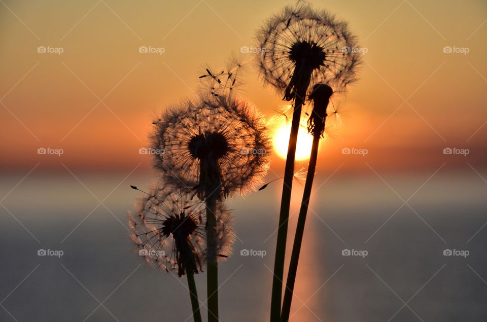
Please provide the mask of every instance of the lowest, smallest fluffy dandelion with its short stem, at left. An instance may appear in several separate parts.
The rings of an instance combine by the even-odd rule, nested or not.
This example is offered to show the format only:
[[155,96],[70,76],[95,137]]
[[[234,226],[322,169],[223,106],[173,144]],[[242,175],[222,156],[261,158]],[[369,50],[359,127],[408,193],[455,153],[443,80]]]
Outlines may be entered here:
[[[131,186],[138,190],[136,187]],[[142,190],[141,190],[142,191]],[[186,275],[195,321],[201,321],[194,274],[203,271],[206,252],[206,216],[204,204],[192,200],[184,191],[157,187],[145,193],[130,213],[131,237],[138,254],[166,271]],[[234,241],[232,218],[222,203],[216,207],[215,257],[231,254]]]

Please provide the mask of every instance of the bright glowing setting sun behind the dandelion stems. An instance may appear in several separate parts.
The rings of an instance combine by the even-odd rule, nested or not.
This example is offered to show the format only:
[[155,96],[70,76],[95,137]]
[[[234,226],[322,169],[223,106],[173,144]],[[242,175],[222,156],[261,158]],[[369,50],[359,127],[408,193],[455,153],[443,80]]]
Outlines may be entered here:
[[[283,159],[288,155],[289,134],[291,133],[291,123],[283,122],[274,132],[272,144],[274,151]],[[298,141],[296,145],[296,160],[306,160],[309,158],[313,137],[307,133],[306,129],[300,127]]]

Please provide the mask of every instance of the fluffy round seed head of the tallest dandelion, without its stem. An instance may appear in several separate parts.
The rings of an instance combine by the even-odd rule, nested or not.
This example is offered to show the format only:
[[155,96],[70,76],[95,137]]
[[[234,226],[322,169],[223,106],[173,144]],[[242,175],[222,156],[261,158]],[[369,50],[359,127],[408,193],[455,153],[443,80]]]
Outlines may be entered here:
[[355,37],[345,22],[327,11],[304,2],[288,6],[258,31],[257,40],[264,82],[285,100],[294,99],[300,90],[309,94],[318,83],[341,90],[356,80],[361,57],[350,50],[357,47]]

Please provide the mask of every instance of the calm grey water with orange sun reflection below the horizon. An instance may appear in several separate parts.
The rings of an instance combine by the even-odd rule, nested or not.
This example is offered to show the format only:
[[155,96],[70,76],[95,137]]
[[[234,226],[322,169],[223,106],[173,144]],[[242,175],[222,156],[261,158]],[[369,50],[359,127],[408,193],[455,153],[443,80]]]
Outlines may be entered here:
[[[186,280],[132,252],[124,225],[137,194],[128,185],[149,178],[134,172],[110,194],[125,175],[79,174],[93,196],[69,173],[34,173],[5,198],[12,214],[0,207],[1,321],[191,321]],[[487,183],[473,171],[442,170],[408,200],[430,175],[385,174],[391,189],[373,173],[336,174],[317,190],[294,321],[487,320]],[[22,176],[3,177],[1,195]],[[323,183],[317,178],[315,187]],[[224,322],[268,317],[280,189],[275,183],[231,202],[238,240],[220,265]],[[63,256],[37,256],[40,248]],[[267,254],[240,256],[241,249]],[[346,249],[366,256],[342,256]],[[445,249],[469,253],[444,256]],[[204,299],[204,274],[196,278]]]

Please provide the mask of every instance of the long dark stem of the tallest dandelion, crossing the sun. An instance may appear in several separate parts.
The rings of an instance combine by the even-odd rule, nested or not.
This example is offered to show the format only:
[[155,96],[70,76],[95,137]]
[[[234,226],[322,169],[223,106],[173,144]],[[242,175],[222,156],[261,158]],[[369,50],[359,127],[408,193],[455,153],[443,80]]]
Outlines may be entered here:
[[284,279],[284,259],[286,257],[286,239],[288,235],[289,207],[291,204],[291,189],[293,185],[294,157],[296,153],[296,141],[298,138],[301,108],[304,103],[306,89],[297,93],[294,101],[293,120],[289,135],[288,155],[284,169],[283,195],[281,199],[281,211],[279,215],[279,228],[277,228],[277,243],[275,247],[274,277],[272,280],[272,298],[270,304],[270,321],[277,322],[281,316],[281,300]]

